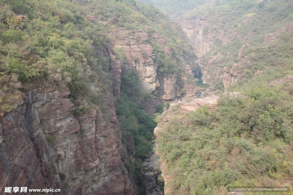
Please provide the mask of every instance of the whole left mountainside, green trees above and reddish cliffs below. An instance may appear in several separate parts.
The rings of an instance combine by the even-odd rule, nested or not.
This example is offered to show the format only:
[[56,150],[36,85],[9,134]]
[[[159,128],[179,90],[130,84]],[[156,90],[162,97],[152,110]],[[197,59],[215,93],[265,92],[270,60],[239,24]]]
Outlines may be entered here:
[[156,98],[193,87],[184,33],[134,0],[4,0],[0,20],[0,192],[145,193],[130,155],[152,151]]

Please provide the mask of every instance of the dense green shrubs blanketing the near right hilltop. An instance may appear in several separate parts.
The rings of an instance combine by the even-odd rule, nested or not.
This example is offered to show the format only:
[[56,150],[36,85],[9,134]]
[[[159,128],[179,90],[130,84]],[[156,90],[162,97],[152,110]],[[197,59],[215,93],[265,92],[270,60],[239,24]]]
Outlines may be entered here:
[[292,139],[292,96],[283,87],[253,83],[248,96],[224,94],[215,109],[201,107],[185,115],[168,110],[174,117],[159,132],[156,150],[166,174],[175,178],[168,186],[172,194],[212,193],[214,186],[289,176],[285,167],[292,156],[281,148]]

